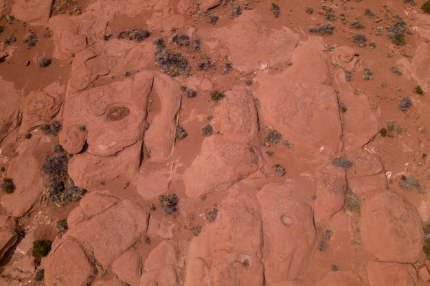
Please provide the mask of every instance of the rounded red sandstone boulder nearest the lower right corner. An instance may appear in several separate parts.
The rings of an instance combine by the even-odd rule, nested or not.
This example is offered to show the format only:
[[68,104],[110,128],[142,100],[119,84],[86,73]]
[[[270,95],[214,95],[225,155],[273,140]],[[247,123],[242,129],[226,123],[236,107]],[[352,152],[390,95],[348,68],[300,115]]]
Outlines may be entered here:
[[424,233],[416,208],[392,191],[374,191],[361,204],[365,249],[378,261],[414,263],[422,254]]

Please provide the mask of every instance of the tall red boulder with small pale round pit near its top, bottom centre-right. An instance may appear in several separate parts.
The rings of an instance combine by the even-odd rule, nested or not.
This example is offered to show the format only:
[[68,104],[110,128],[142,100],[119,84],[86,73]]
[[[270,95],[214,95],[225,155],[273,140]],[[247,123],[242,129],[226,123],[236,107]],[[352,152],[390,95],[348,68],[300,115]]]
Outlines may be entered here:
[[299,278],[317,248],[313,209],[293,184],[269,183],[257,193],[263,228],[264,278],[272,285]]

